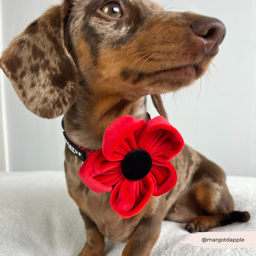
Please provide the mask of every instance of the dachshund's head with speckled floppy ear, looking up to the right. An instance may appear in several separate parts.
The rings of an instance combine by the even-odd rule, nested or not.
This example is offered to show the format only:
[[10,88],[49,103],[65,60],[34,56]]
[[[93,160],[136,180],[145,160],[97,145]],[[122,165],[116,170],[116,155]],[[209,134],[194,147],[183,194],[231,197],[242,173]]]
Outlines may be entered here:
[[11,42],[0,66],[30,111],[55,118],[78,92],[134,101],[190,85],[224,36],[216,19],[148,0],[64,0]]

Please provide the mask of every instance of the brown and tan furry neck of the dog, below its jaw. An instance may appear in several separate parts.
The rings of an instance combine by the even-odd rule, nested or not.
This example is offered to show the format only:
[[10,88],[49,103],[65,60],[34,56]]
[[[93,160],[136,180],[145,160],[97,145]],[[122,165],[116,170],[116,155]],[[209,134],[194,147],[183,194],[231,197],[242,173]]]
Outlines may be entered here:
[[118,96],[91,94],[84,97],[79,94],[74,105],[65,114],[66,133],[75,144],[98,150],[102,147],[106,128],[114,119],[124,115],[146,121],[146,97],[128,101]]

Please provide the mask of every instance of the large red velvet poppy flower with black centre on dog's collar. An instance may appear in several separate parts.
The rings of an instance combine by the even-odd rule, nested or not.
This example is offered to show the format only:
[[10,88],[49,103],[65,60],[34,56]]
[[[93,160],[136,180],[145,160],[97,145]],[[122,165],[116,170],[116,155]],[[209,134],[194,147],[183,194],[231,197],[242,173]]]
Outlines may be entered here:
[[170,160],[183,146],[180,133],[161,116],[148,122],[121,116],[107,127],[102,149],[89,155],[79,177],[95,193],[112,192],[112,209],[129,218],[152,195],[174,187],[177,174]]

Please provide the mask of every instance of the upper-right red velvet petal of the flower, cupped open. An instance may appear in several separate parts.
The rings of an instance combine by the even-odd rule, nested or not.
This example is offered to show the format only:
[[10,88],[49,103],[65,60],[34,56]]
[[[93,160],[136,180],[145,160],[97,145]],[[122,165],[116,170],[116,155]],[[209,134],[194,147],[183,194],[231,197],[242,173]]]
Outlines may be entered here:
[[148,151],[153,160],[170,162],[183,147],[181,134],[162,116],[148,121],[140,131],[138,148]]

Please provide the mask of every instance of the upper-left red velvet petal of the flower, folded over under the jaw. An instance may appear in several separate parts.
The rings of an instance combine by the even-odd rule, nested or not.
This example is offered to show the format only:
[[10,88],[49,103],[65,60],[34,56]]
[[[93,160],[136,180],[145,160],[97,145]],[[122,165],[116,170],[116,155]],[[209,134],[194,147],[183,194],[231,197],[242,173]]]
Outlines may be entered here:
[[[137,145],[134,145],[135,139],[132,139],[129,135],[132,135],[143,124],[145,124],[144,120],[137,120],[132,116],[116,118],[107,127],[103,136],[102,152],[106,159],[109,161],[123,160],[124,156],[121,152],[127,151],[127,145],[131,147],[130,150],[136,149]],[[126,140],[126,145],[121,145],[124,140]]]

